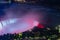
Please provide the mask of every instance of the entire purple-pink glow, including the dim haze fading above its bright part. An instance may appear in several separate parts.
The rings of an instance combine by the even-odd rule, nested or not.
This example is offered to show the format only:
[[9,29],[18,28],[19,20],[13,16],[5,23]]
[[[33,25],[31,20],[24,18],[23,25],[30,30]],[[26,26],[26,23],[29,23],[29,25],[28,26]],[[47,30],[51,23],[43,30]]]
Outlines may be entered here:
[[16,6],[4,10],[6,15],[2,18],[3,26],[0,27],[0,35],[21,33],[33,29],[39,23],[42,23],[42,19],[45,17],[45,14],[37,12],[40,10],[39,8],[30,7],[30,10],[28,10],[29,6]]

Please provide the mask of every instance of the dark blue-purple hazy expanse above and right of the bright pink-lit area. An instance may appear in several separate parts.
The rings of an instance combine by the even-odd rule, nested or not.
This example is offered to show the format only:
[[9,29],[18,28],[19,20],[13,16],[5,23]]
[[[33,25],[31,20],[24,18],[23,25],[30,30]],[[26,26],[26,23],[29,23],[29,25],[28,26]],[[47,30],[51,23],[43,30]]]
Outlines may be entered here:
[[[32,18],[33,20],[38,18],[39,23],[44,24],[46,26],[55,27],[56,25],[60,25],[59,2],[60,1],[58,1],[58,0],[57,1],[55,1],[55,0],[54,1],[52,1],[52,0],[48,0],[48,1],[43,0],[42,1],[41,0],[39,2],[37,1],[35,4],[32,4],[32,3],[19,4],[18,3],[18,5],[17,5],[15,2],[10,3],[10,4],[1,3],[0,4],[0,21],[5,20],[6,15],[10,15],[8,13],[10,13],[9,11],[12,10],[14,13],[13,14],[14,16],[11,16],[10,18],[16,18],[16,17],[26,18],[31,15],[33,17]],[[19,11],[21,11],[21,14],[18,13]],[[34,11],[34,13],[32,11]],[[31,14],[29,14],[29,12]],[[28,16],[26,16],[26,15],[28,15]],[[29,18],[31,18],[31,16]],[[7,18],[9,19],[9,17],[7,17]]]

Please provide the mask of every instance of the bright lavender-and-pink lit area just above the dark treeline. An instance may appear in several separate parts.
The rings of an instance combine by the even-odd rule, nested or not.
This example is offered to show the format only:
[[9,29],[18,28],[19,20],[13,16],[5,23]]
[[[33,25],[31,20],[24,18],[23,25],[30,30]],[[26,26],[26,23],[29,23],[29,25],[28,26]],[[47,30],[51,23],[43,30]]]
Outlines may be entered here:
[[8,18],[3,21],[3,27],[0,31],[0,35],[7,33],[21,33],[33,29],[38,25],[38,23],[38,17],[35,14],[27,14],[22,18]]

